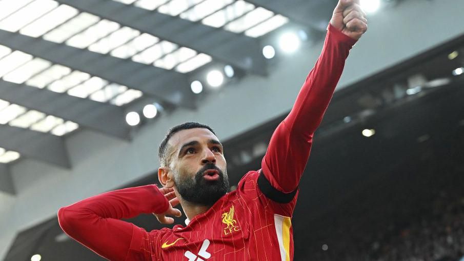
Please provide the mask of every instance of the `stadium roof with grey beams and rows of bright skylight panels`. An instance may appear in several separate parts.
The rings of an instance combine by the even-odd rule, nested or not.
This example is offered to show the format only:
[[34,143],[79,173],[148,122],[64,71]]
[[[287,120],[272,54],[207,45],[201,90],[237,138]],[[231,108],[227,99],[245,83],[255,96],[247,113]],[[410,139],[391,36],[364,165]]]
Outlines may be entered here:
[[[193,109],[192,75],[212,63],[266,75],[260,38],[291,21],[325,30],[301,10],[330,12],[329,2],[0,1],[0,163],[71,167],[60,136],[90,129],[130,139],[125,112],[143,98]],[[11,142],[24,136],[34,141]],[[44,137],[53,142],[36,140]]]

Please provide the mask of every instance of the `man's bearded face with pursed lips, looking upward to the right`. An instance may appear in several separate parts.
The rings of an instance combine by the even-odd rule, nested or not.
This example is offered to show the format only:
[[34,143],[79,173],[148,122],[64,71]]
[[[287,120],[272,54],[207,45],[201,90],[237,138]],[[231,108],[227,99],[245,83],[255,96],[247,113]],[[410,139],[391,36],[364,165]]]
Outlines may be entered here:
[[168,144],[166,186],[174,187],[184,200],[210,206],[230,191],[223,146],[211,131],[181,130]]

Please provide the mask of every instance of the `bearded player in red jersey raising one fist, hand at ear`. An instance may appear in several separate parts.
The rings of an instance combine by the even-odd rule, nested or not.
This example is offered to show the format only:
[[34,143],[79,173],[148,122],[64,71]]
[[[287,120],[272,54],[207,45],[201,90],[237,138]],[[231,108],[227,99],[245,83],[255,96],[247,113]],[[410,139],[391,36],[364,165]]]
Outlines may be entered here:
[[[186,123],[170,130],[159,148],[158,179],[110,191],[59,209],[62,229],[110,260],[293,260],[291,216],[312,137],[319,126],[349,50],[367,30],[358,0],[339,0],[324,49],[290,114],[275,130],[262,168],[229,192],[223,147],[208,126]],[[257,101],[259,103],[259,101]],[[119,220],[154,213],[172,224],[180,211],[187,226],[147,232]]]

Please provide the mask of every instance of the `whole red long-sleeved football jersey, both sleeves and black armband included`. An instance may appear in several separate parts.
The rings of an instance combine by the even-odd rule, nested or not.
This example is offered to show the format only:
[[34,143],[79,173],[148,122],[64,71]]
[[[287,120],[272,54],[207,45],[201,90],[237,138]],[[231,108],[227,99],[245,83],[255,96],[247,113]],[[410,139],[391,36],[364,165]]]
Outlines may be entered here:
[[248,172],[235,191],[187,226],[147,232],[119,220],[165,212],[169,202],[155,185],[110,191],[60,208],[59,225],[110,260],[293,260],[291,217],[298,183],[314,131],[355,42],[329,25],[322,53],[272,135],[261,169]]

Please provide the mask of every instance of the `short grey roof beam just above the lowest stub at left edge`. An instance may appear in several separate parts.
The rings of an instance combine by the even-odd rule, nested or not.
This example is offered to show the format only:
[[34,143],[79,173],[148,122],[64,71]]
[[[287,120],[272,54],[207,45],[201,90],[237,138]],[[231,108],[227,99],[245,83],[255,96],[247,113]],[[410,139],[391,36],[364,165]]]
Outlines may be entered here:
[[0,147],[60,167],[71,167],[64,139],[52,134],[0,124]]

